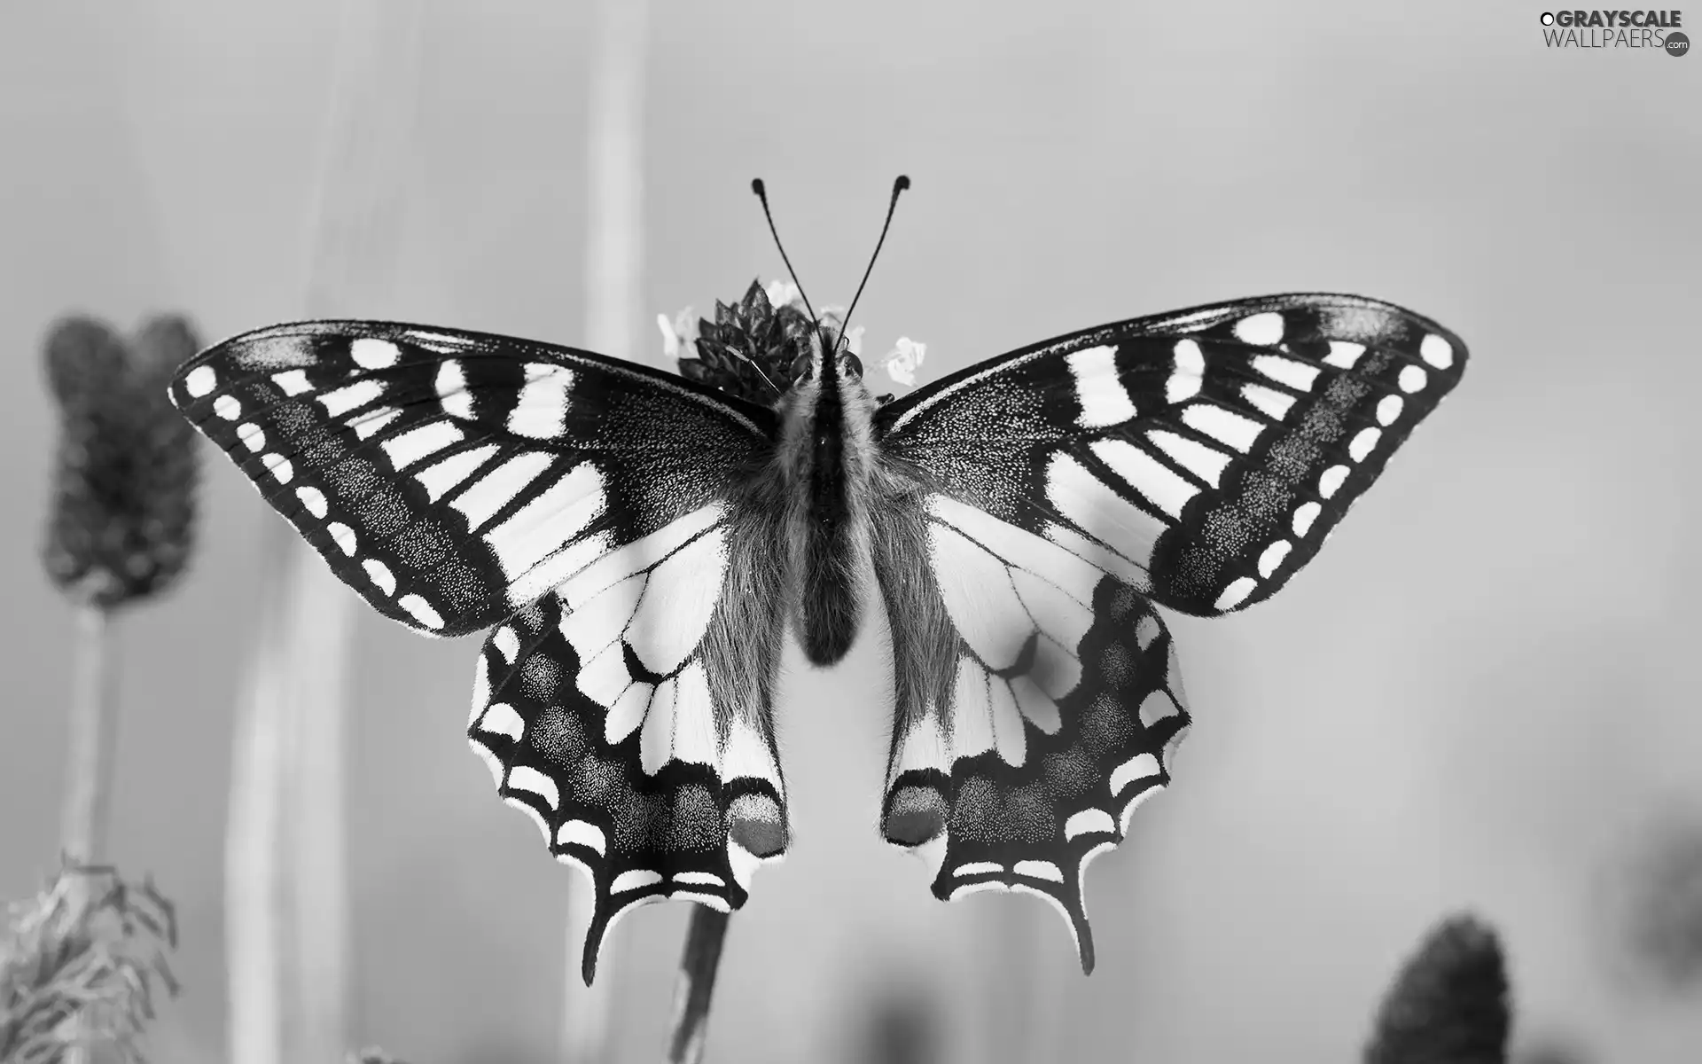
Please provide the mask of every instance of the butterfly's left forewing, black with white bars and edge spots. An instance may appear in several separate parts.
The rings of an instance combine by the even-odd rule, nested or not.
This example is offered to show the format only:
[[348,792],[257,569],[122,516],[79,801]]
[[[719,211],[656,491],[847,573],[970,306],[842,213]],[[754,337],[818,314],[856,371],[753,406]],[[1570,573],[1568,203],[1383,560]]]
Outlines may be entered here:
[[388,322],[243,334],[170,395],[332,572],[426,635],[488,628],[728,497],[773,429],[614,359]]

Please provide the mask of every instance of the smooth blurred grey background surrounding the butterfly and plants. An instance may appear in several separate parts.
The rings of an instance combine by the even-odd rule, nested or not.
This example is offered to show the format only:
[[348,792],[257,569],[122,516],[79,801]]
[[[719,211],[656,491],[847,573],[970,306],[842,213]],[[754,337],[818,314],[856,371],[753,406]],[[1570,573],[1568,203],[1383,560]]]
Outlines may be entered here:
[[[1539,14],[650,0],[642,306],[609,354],[660,364],[655,313],[780,276],[756,175],[812,298],[848,301],[904,172],[860,323],[865,356],[924,340],[922,380],[1295,289],[1402,303],[1474,359],[1282,596],[1173,620],[1197,727],[1088,878],[1089,979],[1045,906],[943,906],[880,843],[883,625],[829,674],[788,647],[798,836],[734,919],[711,1059],[984,1061],[1011,1052],[1014,1001],[1035,1059],[1348,1061],[1396,965],[1462,907],[1505,936],[1515,1044],[1702,1059],[1697,965],[1663,977],[1625,930],[1625,899],[1659,890],[1649,855],[1702,831],[1702,58],[1551,51]],[[124,330],[180,310],[208,342],[303,317],[342,17],[0,12],[0,895],[56,867],[66,742],[41,339],[71,310]],[[592,9],[415,19],[395,266],[339,308],[587,342]],[[112,826],[114,860],[179,904],[186,992],[153,1038],[184,1062],[226,1059],[231,706],[276,521],[221,458],[206,470],[194,572],[121,630]],[[352,1023],[417,1062],[546,1061],[575,880],[466,751],[475,652],[357,611]],[[686,914],[614,931],[614,1059],[660,1052]]]

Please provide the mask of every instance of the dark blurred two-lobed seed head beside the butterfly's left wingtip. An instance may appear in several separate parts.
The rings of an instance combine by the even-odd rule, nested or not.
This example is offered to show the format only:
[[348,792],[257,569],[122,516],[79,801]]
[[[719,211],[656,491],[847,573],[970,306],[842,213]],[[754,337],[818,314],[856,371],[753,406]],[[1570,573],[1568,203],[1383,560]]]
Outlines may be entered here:
[[48,332],[60,441],[43,563],[77,603],[109,609],[150,598],[189,562],[196,434],[167,385],[199,346],[175,315],[146,322],[129,340],[87,317]]

